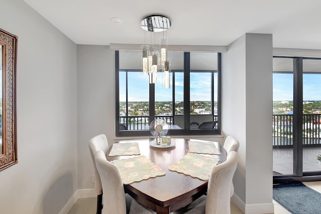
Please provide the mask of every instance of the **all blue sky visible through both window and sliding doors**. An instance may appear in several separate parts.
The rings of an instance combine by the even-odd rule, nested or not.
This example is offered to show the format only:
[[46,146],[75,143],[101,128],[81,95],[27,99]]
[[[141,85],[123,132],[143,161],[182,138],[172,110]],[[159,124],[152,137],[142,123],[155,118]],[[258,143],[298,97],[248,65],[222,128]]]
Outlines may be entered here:
[[[125,73],[120,72],[119,78],[124,82]],[[191,73],[191,100],[209,101],[210,98],[210,74]],[[172,75],[171,75],[172,76]],[[175,75],[175,98],[183,101],[183,72]],[[173,82],[171,88],[164,88],[163,73],[159,72],[158,82],[155,83],[156,101],[171,101]],[[217,82],[217,76],[214,77]],[[125,85],[120,85],[120,101],[125,101]],[[215,97],[217,90],[214,91]],[[148,101],[148,75],[141,72],[128,72],[128,100]],[[273,73],[273,100],[293,100],[293,74]],[[303,74],[303,100],[321,100],[321,74]]]

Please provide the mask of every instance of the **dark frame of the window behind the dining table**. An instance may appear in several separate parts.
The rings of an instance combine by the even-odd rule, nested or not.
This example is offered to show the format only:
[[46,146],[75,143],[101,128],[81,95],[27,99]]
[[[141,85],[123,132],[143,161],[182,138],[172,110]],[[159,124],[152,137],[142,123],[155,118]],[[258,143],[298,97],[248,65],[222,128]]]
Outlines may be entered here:
[[[213,51],[214,52],[214,51]],[[207,71],[212,73],[211,82],[211,102],[212,102],[212,116],[214,117],[214,73],[217,72],[217,128],[216,129],[190,129],[190,52],[184,52],[184,128],[183,129],[170,129],[167,135],[219,135],[221,134],[221,53],[217,52],[217,70]],[[129,69],[128,69],[129,70]],[[131,69],[132,70],[132,69]],[[175,73],[182,72],[172,70],[172,81],[175,82]],[[127,74],[126,74],[127,85]],[[154,115],[154,84],[149,84],[149,121],[157,117]],[[175,116],[175,86],[172,88],[173,100],[173,118]],[[128,112],[128,94],[126,90],[126,105]],[[149,136],[149,130],[119,130],[119,50],[115,50],[115,135],[117,137],[125,136]]]

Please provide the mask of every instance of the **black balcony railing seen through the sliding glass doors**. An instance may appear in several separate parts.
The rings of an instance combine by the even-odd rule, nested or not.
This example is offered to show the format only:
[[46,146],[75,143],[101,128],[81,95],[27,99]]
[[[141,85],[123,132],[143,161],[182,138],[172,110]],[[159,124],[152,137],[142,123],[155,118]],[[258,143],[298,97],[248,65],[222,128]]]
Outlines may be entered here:
[[[321,144],[321,114],[303,114],[303,145]],[[293,145],[293,114],[273,114],[273,145]]]

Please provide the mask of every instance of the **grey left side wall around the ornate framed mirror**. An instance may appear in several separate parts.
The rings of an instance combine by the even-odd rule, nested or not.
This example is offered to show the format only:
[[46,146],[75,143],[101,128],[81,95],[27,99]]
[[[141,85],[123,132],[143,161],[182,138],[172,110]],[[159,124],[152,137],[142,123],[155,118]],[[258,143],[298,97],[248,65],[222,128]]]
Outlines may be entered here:
[[76,44],[22,0],[0,0],[19,36],[19,163],[0,171],[1,213],[58,213],[77,186]]

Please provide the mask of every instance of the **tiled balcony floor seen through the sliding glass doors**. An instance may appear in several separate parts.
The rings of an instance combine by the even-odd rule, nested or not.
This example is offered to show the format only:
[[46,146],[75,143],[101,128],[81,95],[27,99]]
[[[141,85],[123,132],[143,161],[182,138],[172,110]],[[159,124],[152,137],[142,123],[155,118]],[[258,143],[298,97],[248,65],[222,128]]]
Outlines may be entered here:
[[[303,172],[319,171],[316,155],[321,153],[321,145],[303,147]],[[273,148],[273,175],[293,173],[293,148]]]

